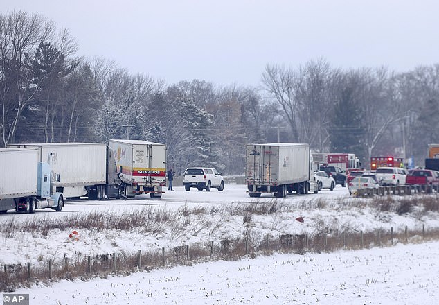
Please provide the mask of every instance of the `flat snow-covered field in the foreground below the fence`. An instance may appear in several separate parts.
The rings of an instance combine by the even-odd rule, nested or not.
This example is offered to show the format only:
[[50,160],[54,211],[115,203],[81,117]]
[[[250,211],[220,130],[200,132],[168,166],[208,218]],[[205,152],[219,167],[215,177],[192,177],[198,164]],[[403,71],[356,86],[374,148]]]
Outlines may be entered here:
[[21,288],[30,304],[438,304],[439,242],[274,254]]

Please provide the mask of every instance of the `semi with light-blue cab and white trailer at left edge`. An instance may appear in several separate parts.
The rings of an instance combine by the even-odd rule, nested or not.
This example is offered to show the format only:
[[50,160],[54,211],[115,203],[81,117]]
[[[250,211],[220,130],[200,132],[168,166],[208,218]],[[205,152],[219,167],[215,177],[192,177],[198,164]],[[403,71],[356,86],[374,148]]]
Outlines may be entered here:
[[0,213],[64,207],[64,196],[51,180],[51,166],[39,162],[38,153],[37,149],[0,148]]

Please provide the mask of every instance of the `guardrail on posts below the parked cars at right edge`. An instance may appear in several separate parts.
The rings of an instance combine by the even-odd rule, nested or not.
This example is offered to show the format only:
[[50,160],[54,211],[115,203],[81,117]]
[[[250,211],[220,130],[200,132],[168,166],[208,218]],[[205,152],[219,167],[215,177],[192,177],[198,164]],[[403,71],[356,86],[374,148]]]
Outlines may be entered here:
[[377,188],[359,189],[352,192],[352,195],[358,197],[371,197],[374,195],[412,195],[415,193],[439,193],[439,184],[422,184],[422,185],[397,185],[397,186],[379,186]]

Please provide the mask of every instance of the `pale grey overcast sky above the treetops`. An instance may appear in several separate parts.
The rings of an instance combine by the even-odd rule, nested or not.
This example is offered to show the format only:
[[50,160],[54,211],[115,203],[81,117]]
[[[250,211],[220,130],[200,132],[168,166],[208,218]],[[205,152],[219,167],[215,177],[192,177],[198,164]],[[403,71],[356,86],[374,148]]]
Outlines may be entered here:
[[0,0],[66,27],[78,55],[173,83],[258,85],[266,64],[409,71],[438,63],[439,1]]

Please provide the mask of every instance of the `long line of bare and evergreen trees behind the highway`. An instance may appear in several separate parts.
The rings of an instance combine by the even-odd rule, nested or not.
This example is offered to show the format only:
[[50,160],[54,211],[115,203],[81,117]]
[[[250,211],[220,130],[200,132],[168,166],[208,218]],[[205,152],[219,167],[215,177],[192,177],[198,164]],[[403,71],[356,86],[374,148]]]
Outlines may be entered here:
[[66,28],[24,11],[0,15],[0,146],[145,139],[168,166],[244,172],[246,143],[310,143],[321,152],[414,157],[439,143],[439,64],[395,73],[323,58],[267,64],[255,87],[166,84],[77,54]]

